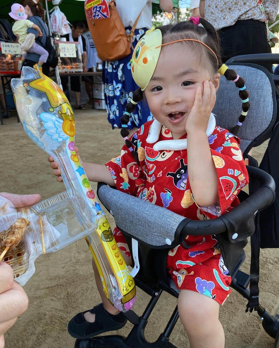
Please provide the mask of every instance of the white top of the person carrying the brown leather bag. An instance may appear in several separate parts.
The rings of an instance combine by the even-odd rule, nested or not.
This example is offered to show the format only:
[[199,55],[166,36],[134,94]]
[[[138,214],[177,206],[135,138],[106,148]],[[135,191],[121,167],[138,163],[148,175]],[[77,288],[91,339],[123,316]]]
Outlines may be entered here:
[[152,27],[152,2],[155,0],[116,0],[116,8],[124,27],[133,26],[141,11],[135,29],[150,29]]

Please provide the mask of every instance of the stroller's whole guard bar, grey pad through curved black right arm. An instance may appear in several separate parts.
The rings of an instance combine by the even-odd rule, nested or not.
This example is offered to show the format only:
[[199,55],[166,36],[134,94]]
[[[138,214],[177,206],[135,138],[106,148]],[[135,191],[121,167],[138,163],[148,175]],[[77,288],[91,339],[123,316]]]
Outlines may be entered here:
[[216,219],[190,220],[137,197],[98,183],[97,194],[114,215],[116,226],[130,237],[153,248],[173,248],[187,235],[207,236],[227,232],[231,243],[238,243],[254,233],[254,214],[274,200],[274,180],[258,168],[247,166],[249,177],[261,187],[253,195]]

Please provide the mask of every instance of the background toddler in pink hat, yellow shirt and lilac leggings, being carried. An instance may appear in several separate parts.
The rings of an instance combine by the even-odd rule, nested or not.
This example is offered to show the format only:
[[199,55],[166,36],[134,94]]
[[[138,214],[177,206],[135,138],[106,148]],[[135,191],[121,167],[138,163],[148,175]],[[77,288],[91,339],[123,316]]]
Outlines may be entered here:
[[[27,15],[25,13],[24,7],[19,3],[14,3],[11,5],[11,11],[9,12],[11,18],[15,19],[15,24],[12,27],[13,33],[18,37],[18,42],[21,44],[22,48],[22,58],[21,58],[21,66],[22,62],[25,59],[24,54],[26,51],[29,53],[37,53],[40,55],[38,63],[36,63],[33,68],[42,72],[42,64],[47,61],[48,52],[42,46],[35,42],[35,37],[33,34],[27,34],[28,28],[33,28],[38,30],[39,36],[42,36],[41,29],[38,25],[27,19]],[[21,69],[19,65],[19,70]]]

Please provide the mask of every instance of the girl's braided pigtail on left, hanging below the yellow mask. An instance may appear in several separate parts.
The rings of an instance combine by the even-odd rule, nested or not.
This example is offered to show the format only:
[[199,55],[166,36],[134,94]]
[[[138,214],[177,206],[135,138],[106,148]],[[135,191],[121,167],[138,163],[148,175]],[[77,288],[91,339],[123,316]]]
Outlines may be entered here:
[[132,97],[131,101],[126,105],[126,111],[124,112],[124,115],[121,118],[122,126],[121,126],[121,131],[120,131],[120,134],[123,136],[123,138],[125,140],[125,144],[126,144],[127,148],[132,152],[132,155],[138,164],[139,164],[138,148],[136,147],[135,150],[133,150],[133,144],[128,139],[128,137],[129,137],[128,123],[130,121],[131,113],[135,109],[135,105],[138,102],[140,102],[142,100],[142,98],[143,98],[142,90],[140,88],[136,89],[133,93],[133,97]]

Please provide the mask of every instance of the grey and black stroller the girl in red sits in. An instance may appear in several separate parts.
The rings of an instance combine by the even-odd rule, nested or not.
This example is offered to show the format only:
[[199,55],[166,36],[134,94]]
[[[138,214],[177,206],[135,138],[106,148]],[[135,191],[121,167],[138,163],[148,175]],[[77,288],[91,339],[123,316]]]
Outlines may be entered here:
[[[272,56],[274,60],[276,57]],[[277,118],[275,86],[271,74],[262,66],[249,63],[227,64],[245,79],[247,90],[250,92],[251,106],[238,133],[241,138],[241,150],[246,158],[252,147],[260,145],[272,134]],[[213,110],[217,115],[216,124],[231,128],[237,123],[241,112],[238,90],[233,83],[221,77],[217,94]],[[219,110],[222,110],[222,114]],[[165,291],[176,298],[179,294],[179,290],[166,272],[166,256],[168,251],[182,242],[187,235],[212,234],[216,235],[225,265],[230,270],[232,277],[230,286],[244,298],[249,299],[247,310],[255,309],[262,319],[265,331],[276,338],[276,342],[279,341],[279,315],[270,315],[258,303],[257,266],[254,264],[254,268],[251,268],[251,296],[248,288],[250,275],[239,270],[245,259],[243,247],[247,244],[247,237],[255,236],[256,247],[251,250],[254,256],[259,254],[258,215],[270,206],[275,198],[274,180],[268,173],[256,168],[252,157],[249,157],[247,170],[250,196],[241,191],[238,196],[240,205],[213,220],[189,220],[168,209],[117,191],[104,183],[98,184],[97,193],[100,201],[114,216],[116,226],[122,231],[129,245],[133,266],[138,271],[134,278],[135,284],[150,295],[151,299],[141,316],[135,314],[133,310],[124,313],[133,324],[127,338],[120,335],[106,335],[85,340],[77,339],[75,348],[176,348],[170,343],[169,337],[179,318],[177,306],[163,333],[155,342],[147,342],[144,334],[148,318],[162,292]],[[229,252],[223,254],[224,250]],[[232,254],[237,262],[232,263],[230,258]]]

